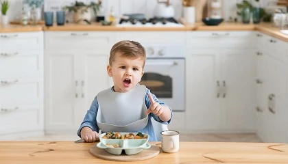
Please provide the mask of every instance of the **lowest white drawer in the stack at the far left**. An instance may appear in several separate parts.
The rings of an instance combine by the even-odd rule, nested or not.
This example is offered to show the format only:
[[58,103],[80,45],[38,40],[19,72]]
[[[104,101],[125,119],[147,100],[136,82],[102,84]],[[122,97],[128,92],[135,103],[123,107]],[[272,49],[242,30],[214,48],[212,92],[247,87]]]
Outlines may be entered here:
[[42,130],[43,106],[37,104],[4,106],[0,103],[0,124],[0,140],[1,135],[5,134]]

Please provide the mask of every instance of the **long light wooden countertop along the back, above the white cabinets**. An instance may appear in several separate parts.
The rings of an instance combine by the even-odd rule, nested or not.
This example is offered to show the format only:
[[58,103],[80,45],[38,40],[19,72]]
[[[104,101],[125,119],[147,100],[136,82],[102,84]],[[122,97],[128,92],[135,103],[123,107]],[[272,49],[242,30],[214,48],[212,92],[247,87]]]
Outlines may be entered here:
[[215,30],[256,30],[274,36],[288,42],[288,35],[281,33],[280,28],[272,27],[272,23],[243,24],[224,22],[217,26],[206,26],[204,23],[185,25],[184,27],[115,27],[115,25],[102,26],[100,23],[82,25],[67,23],[64,26],[54,25],[45,27],[43,25],[0,25],[0,32],[21,32],[21,31],[215,31]]

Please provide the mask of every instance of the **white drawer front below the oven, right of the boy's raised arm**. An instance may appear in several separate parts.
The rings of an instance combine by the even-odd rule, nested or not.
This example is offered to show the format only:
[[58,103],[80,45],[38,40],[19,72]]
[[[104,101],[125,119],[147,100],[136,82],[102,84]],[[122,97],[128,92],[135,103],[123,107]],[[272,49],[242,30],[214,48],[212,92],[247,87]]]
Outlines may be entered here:
[[181,131],[185,129],[185,112],[173,111],[173,118],[168,124],[171,131]]

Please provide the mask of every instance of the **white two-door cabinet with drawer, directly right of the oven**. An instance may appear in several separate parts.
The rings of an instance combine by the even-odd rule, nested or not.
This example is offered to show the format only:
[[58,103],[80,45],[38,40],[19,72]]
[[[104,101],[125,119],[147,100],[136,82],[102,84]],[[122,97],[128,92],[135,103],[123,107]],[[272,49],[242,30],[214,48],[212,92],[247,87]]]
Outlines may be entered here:
[[188,33],[186,122],[189,131],[255,130],[251,33]]

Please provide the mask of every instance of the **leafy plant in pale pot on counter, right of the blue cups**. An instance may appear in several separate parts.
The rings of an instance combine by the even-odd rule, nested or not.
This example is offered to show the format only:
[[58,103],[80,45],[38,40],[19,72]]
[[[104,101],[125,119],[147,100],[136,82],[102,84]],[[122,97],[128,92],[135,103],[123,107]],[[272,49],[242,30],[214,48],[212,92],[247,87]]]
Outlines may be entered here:
[[76,1],[75,4],[64,6],[64,10],[68,10],[69,12],[74,12],[74,22],[82,23],[86,22],[91,24],[92,10],[95,15],[97,11],[99,11],[101,5],[101,1],[98,3],[91,2],[89,5],[86,5],[83,2]]

